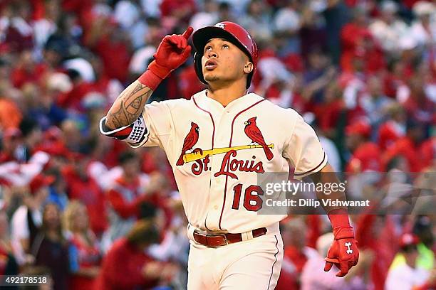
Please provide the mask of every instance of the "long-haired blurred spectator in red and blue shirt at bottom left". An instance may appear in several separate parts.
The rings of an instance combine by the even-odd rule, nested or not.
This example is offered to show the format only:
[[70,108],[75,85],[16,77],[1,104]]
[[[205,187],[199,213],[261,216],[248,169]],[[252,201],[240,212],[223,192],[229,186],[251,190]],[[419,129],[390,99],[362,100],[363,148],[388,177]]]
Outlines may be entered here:
[[73,200],[63,218],[70,243],[70,289],[94,289],[95,278],[100,272],[101,253],[98,240],[89,227],[88,211],[83,203]]

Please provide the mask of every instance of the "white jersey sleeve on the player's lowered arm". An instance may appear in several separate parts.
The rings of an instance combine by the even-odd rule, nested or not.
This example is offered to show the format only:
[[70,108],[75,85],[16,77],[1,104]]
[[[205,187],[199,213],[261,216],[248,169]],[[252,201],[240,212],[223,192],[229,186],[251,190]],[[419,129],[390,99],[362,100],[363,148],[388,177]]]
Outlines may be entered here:
[[301,179],[326,166],[327,155],[313,128],[299,114],[294,114],[294,130],[286,140],[284,157],[295,168],[294,178]]

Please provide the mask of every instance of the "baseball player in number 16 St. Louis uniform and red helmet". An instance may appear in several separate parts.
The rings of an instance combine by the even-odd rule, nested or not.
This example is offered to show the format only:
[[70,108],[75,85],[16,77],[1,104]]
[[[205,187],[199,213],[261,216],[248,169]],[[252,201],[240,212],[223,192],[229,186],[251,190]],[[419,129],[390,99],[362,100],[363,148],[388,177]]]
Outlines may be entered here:
[[[293,109],[249,93],[256,43],[232,22],[192,35],[194,66],[207,90],[190,100],[145,104],[157,85],[190,55],[188,39],[165,36],[147,71],[115,100],[100,131],[130,146],[160,146],[173,168],[189,225],[188,289],[274,289],[283,258],[279,221],[259,215],[266,172],[295,178],[331,171],[313,129]],[[318,177],[316,177],[318,176]],[[331,182],[331,181],[328,181]],[[325,270],[345,276],[358,262],[353,228],[344,208],[326,208],[335,240]]]

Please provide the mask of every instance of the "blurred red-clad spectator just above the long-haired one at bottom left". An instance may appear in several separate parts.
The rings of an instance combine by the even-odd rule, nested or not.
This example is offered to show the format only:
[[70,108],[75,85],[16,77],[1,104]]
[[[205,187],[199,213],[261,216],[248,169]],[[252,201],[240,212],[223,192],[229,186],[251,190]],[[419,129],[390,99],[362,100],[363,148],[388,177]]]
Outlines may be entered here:
[[88,172],[91,160],[87,152],[71,153],[70,157],[71,163],[62,168],[68,198],[80,200],[85,204],[90,218],[90,227],[100,237],[108,227],[105,195]]

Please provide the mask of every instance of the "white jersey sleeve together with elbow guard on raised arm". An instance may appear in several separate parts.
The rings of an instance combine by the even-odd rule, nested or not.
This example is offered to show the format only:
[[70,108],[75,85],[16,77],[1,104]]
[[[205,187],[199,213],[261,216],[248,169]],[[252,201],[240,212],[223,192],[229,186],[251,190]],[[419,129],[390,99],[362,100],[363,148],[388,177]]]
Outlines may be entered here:
[[105,127],[105,119],[100,120],[100,132],[106,136],[125,141],[129,146],[165,147],[172,129],[170,107],[167,102],[146,104],[142,114],[132,124],[110,130]]

